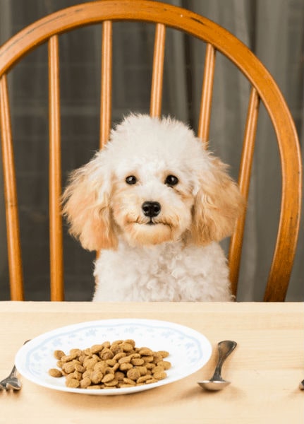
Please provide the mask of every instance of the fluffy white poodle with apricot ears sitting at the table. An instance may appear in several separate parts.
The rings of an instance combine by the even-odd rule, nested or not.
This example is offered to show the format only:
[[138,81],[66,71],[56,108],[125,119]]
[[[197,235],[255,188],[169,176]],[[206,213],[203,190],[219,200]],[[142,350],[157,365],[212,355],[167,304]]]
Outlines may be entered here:
[[243,208],[226,165],[185,124],[126,117],[71,174],[63,214],[96,250],[95,301],[228,301],[219,240]]

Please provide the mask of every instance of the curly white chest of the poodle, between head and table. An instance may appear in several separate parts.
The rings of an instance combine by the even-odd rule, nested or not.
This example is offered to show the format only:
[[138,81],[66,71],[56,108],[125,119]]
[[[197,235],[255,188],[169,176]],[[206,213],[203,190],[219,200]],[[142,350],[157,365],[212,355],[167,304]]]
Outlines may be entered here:
[[217,244],[120,245],[116,251],[102,252],[95,277],[95,300],[100,301],[217,300],[214,290],[218,291],[219,285],[228,293],[226,259]]

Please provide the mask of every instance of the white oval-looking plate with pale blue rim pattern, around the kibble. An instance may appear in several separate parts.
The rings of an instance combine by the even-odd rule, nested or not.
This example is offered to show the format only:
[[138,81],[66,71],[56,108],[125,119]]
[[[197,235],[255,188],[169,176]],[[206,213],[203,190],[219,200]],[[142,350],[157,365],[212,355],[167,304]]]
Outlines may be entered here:
[[[49,368],[56,367],[56,349],[68,353],[71,348],[85,349],[104,341],[127,338],[133,338],[137,347],[146,346],[153,351],[170,353],[167,360],[171,362],[171,369],[167,371],[165,379],[128,388],[87,390],[66,387],[65,378],[55,378],[48,374]],[[49,389],[113,395],[134,393],[176,382],[205,365],[211,351],[207,338],[186,326],[153,319],[104,319],[64,326],[37,336],[20,348],[15,363],[23,377]]]

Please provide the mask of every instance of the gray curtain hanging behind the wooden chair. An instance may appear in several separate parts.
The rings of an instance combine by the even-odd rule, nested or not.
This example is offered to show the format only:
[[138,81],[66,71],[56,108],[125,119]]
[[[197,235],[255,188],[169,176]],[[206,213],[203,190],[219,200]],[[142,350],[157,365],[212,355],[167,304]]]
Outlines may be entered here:
[[[224,26],[255,52],[279,84],[296,122],[303,148],[304,2],[303,0],[169,0]],[[0,0],[0,42],[25,25],[75,0]],[[60,38],[63,184],[67,173],[90,160],[98,148],[99,25]],[[114,25],[113,121],[129,111],[148,112],[153,25]],[[197,128],[205,49],[198,40],[168,30],[164,74],[164,114]],[[124,69],[122,72],[121,69]],[[27,300],[49,298],[48,269],[48,110],[47,48],[32,52],[9,80],[13,135],[20,201],[20,223]],[[217,56],[210,148],[231,165],[238,163],[248,105],[249,86],[243,75]],[[2,178],[2,176],[1,176]],[[253,180],[241,264],[238,300],[262,300],[272,257],[279,204],[280,165],[272,125],[260,113]],[[0,196],[3,196],[0,193]],[[34,206],[33,206],[34,205]],[[0,202],[0,300],[8,299],[5,216]],[[287,300],[304,300],[304,228]],[[226,242],[223,243],[226,249]],[[66,300],[90,300],[94,254],[85,252],[67,234],[65,247]]]

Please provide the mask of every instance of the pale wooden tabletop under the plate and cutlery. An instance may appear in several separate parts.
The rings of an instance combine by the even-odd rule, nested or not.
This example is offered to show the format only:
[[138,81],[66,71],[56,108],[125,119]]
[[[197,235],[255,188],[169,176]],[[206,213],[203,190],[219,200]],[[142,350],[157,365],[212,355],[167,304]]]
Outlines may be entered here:
[[[303,303],[0,302],[0,376],[11,370],[28,338],[59,326],[109,318],[162,319],[205,334],[214,347],[207,365],[178,382],[137,394],[90,396],[39,387],[23,378],[18,392],[1,391],[0,423],[290,423],[304,422]],[[207,392],[217,342],[236,351],[224,365],[232,384]]]

